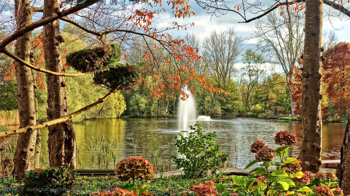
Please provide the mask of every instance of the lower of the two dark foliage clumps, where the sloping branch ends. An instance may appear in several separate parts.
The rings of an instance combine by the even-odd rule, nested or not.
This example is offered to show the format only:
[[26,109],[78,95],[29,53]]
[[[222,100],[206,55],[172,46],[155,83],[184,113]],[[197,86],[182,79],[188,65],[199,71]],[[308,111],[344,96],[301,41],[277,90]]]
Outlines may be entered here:
[[139,69],[135,66],[118,64],[105,71],[99,71],[93,77],[93,81],[108,89],[120,85],[120,90],[132,89],[140,82]]

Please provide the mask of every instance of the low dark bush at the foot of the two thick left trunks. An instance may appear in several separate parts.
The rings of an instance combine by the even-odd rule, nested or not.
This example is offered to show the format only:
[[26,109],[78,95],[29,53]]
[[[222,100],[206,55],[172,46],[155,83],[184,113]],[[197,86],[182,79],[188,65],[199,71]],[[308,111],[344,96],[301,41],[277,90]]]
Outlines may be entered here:
[[35,169],[23,178],[20,195],[66,195],[75,185],[75,172],[68,167]]

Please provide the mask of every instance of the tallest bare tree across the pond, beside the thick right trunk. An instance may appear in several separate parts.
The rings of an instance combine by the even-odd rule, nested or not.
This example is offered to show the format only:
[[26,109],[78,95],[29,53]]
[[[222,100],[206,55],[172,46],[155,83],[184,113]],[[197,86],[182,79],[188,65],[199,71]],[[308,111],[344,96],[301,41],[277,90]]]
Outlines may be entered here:
[[269,56],[269,61],[281,67],[285,73],[292,116],[295,116],[295,101],[289,86],[292,76],[289,73],[293,72],[304,44],[304,15],[301,12],[293,12],[291,7],[288,9],[288,12],[282,14],[283,17],[278,10],[274,10],[268,13],[266,18],[256,22],[254,37],[259,40],[257,50]]

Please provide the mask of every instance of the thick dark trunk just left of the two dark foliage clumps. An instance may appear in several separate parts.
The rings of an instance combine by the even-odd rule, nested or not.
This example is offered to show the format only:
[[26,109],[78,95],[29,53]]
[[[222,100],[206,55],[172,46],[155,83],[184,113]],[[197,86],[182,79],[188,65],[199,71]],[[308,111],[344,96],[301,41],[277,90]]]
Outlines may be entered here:
[[[44,0],[43,17],[59,12],[61,1]],[[59,32],[59,20],[43,27],[45,67],[50,71],[64,72],[61,43],[64,42]],[[48,90],[47,116],[54,120],[69,114],[66,84],[64,77],[46,74]],[[48,150],[50,167],[76,166],[76,138],[72,120],[49,126]]]

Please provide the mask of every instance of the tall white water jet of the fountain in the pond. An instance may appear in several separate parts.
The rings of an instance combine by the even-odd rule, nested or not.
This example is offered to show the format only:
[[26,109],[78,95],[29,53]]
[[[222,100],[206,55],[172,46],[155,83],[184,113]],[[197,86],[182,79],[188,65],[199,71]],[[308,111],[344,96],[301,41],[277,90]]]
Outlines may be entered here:
[[187,90],[187,86],[184,86],[182,90],[189,95],[189,97],[186,100],[181,100],[182,95],[179,96],[179,105],[177,106],[178,128],[181,132],[188,132],[188,126],[195,124],[190,123],[190,121],[195,121],[197,119],[197,109],[195,99],[192,93]]

